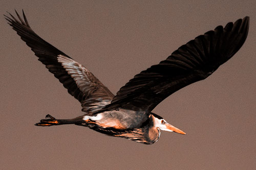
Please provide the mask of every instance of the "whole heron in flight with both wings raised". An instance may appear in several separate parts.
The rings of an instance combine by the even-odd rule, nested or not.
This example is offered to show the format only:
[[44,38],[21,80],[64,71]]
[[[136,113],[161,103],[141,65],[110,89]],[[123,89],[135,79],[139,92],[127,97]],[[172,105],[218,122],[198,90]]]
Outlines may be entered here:
[[[15,10],[16,12],[16,10]],[[228,22],[180,46],[166,60],[135,75],[114,95],[86,67],[40,38],[23,18],[5,15],[9,25],[31,47],[38,60],[77,99],[84,112],[72,119],[46,115],[36,126],[75,124],[144,144],[158,141],[160,131],[186,134],[152,110],[175,91],[210,76],[241,48],[249,17]]]

